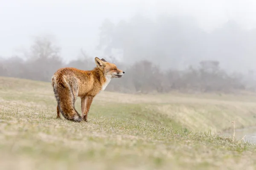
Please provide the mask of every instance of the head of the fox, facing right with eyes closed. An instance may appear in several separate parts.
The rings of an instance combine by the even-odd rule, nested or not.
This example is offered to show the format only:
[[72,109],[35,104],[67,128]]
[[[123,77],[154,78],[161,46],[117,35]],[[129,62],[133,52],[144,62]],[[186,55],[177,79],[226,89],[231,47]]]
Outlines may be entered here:
[[97,68],[99,68],[105,77],[110,76],[111,78],[121,78],[125,72],[118,69],[115,64],[107,62],[105,59],[99,59],[95,57]]

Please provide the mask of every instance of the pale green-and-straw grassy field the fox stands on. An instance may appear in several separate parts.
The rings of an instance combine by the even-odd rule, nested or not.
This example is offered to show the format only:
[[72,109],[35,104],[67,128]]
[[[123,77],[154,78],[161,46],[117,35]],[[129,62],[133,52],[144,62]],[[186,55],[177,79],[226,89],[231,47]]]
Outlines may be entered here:
[[[76,102],[80,112],[80,98]],[[222,130],[256,125],[253,95],[101,92],[88,121],[56,117],[50,83],[0,77],[3,170],[253,170],[256,146]]]

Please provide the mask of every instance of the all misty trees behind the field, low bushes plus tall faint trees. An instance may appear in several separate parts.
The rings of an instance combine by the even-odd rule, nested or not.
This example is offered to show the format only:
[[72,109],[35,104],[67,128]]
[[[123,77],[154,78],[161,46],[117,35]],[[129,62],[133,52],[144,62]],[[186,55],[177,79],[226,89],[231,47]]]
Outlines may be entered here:
[[[207,33],[189,17],[162,15],[153,20],[134,16],[116,24],[105,20],[99,38],[97,48],[104,51],[104,58],[125,71],[125,76],[113,79],[106,90],[125,93],[255,91],[256,29],[244,30],[233,21]],[[60,52],[61,48],[48,37],[37,37],[24,52],[25,58],[0,57],[0,76],[49,82],[58,68],[90,70],[96,66],[95,56],[87,56],[83,50],[79,58],[68,63],[63,62]],[[122,53],[122,62],[111,57],[119,53]]]

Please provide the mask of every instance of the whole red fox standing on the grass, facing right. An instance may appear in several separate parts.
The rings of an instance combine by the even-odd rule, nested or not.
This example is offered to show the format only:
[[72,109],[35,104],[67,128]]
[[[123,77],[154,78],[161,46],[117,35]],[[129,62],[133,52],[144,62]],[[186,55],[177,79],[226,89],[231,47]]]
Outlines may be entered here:
[[[102,90],[104,91],[112,78],[121,78],[125,72],[105,59],[95,57],[96,67],[90,71],[76,68],[60,68],[52,76],[52,87],[57,100],[57,118],[60,113],[64,118],[87,122],[90,105]],[[77,97],[81,98],[81,116],[75,109]]]

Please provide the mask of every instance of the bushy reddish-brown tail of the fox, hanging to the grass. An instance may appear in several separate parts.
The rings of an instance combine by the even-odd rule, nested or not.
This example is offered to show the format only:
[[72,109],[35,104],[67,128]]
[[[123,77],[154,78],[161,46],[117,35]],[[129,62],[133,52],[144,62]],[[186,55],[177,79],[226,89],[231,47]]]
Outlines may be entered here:
[[74,122],[81,122],[82,118],[75,109],[76,96],[73,94],[73,87],[62,77],[52,77],[52,87],[59,111],[64,118]]

